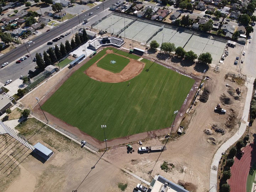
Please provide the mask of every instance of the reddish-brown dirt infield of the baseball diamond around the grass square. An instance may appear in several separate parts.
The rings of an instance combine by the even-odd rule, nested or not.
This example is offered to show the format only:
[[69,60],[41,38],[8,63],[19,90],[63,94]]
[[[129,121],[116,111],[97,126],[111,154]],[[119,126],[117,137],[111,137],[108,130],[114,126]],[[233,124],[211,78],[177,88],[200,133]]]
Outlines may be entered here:
[[[107,50],[106,53],[113,53],[113,50]],[[130,62],[123,68],[120,73],[112,73],[97,66],[98,61],[105,57],[107,54],[103,55],[100,59],[97,60],[97,62],[85,70],[85,74],[90,78],[101,82],[123,82],[139,75],[145,66],[145,63],[134,59],[129,59]],[[123,57],[123,55],[119,56]]]

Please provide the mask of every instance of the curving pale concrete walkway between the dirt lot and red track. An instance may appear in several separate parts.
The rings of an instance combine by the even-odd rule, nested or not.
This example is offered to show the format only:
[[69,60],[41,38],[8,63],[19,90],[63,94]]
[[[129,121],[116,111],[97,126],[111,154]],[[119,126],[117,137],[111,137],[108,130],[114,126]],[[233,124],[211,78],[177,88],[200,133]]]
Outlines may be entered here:
[[[219,147],[219,149],[216,151],[213,157],[212,164],[210,167],[210,186],[209,186],[210,192],[217,192],[217,175],[218,175],[217,170],[218,170],[220,158],[222,157],[222,153],[225,152],[235,142],[237,142],[240,139],[240,137],[242,137],[242,135],[246,130],[246,126],[249,125],[249,122],[247,122],[247,119],[249,117],[254,79],[255,78],[251,78],[250,82],[248,82],[248,80],[245,82],[245,86],[247,87],[247,95],[245,100],[244,112],[242,114],[243,120],[241,122],[239,130]],[[213,166],[215,166],[216,169],[213,169]]]

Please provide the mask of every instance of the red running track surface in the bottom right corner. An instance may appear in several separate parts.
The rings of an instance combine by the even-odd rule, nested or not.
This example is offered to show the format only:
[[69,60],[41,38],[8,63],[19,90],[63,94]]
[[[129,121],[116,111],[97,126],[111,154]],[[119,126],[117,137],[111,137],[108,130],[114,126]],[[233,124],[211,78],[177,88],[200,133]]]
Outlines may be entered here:
[[[246,181],[250,167],[256,162],[256,154],[251,155],[251,151],[255,148],[255,144],[251,143],[242,149],[244,155],[239,160],[235,158],[234,165],[231,167],[231,177],[228,183],[231,192],[246,192]],[[254,149],[255,150],[255,149]]]

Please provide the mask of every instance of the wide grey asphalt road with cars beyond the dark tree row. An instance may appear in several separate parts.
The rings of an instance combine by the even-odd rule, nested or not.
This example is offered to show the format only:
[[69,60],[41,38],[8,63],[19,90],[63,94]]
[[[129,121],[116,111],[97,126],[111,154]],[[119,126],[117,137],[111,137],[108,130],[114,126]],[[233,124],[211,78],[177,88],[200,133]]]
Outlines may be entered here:
[[[116,0],[106,0],[104,1],[104,7],[106,9],[106,7],[109,7],[110,5],[112,5],[114,2],[116,2]],[[103,10],[103,4],[98,5],[100,7],[100,9],[96,9],[96,7],[93,7],[90,10],[87,10],[83,13],[81,13],[79,16],[73,17],[70,20],[58,25],[57,27],[54,27],[53,29],[51,29],[48,32],[45,32],[43,34],[41,34],[40,36],[35,37],[34,39],[32,39],[32,41],[34,43],[30,44],[30,46],[28,46],[28,44],[26,44],[28,51],[32,51],[33,49],[36,49],[37,47],[41,46],[42,44],[48,42],[48,41],[52,41],[53,38],[63,34],[66,31],[69,31],[71,28],[77,26],[79,24],[79,20],[80,22],[85,19],[85,18],[90,18],[93,17],[94,15],[100,13]],[[92,12],[92,15],[88,15],[88,13]],[[26,49],[25,44],[22,44],[20,46],[18,46],[15,49],[12,49],[10,52],[4,54],[3,56],[0,57],[0,64],[2,65],[5,62],[13,62],[15,60],[17,60],[20,57],[23,57],[23,55],[27,54],[27,49]]]

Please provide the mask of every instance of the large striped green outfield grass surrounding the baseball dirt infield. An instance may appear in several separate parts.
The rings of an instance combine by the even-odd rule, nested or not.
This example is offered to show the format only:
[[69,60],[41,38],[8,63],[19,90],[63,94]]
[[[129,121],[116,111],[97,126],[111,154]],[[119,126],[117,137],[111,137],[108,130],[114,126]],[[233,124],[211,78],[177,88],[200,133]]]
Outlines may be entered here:
[[[113,49],[116,51],[116,49]],[[97,53],[81,66],[44,103],[43,110],[75,126],[98,140],[114,139],[170,127],[194,80],[142,59],[146,72],[121,83],[93,80],[84,71],[106,53]],[[118,50],[118,54],[138,59]]]

